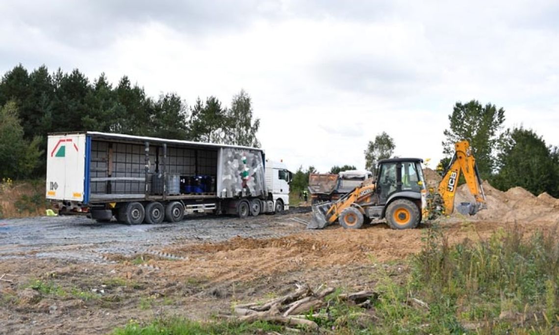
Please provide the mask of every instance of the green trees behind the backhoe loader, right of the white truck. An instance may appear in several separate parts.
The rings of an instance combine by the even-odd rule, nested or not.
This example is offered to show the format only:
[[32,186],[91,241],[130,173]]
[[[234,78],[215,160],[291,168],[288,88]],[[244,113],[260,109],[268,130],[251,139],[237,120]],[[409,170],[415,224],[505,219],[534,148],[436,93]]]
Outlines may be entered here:
[[[454,143],[467,139],[475,155],[482,180],[501,191],[520,186],[539,195],[559,197],[559,149],[546,144],[542,136],[523,126],[504,128],[505,110],[477,100],[456,102],[448,115],[449,127],[443,134],[444,158],[439,172],[448,167]],[[394,153],[394,139],[383,132],[369,141],[365,150],[366,168],[375,173],[378,160]]]

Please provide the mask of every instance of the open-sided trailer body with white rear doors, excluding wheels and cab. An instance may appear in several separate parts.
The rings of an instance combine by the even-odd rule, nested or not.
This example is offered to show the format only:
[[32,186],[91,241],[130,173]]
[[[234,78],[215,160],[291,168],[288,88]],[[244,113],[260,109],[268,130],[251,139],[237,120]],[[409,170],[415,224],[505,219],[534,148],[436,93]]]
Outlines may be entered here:
[[[272,195],[265,184],[266,159],[262,149],[96,131],[53,133],[49,136],[54,140],[51,143],[49,137],[52,158],[48,160],[47,198],[61,202],[63,206],[72,209],[76,207],[78,211],[87,211],[88,207],[95,209],[111,206],[114,213],[120,204],[129,202],[143,202],[147,205],[154,201],[163,204],[180,201],[186,213],[221,211],[237,214],[233,212],[238,211],[239,201],[248,200],[251,201],[248,202],[250,206],[259,205],[262,212],[274,211]],[[65,150],[68,153],[66,156],[66,153],[59,155],[60,150],[64,149],[60,144],[69,146],[68,142],[72,143],[75,152],[70,147]],[[55,153],[56,157],[61,156],[70,162],[63,163],[64,178],[67,180],[54,181],[56,185],[64,185],[63,191],[58,194],[56,188],[53,190],[53,180],[56,177],[52,175],[56,171],[49,173],[49,169],[60,169],[59,161],[54,158]],[[252,159],[250,168],[243,168],[254,174],[247,178],[253,178],[249,183],[243,181],[242,188],[238,185],[239,180],[231,182],[232,178],[239,178],[236,170],[231,172],[231,169],[239,168],[239,155],[243,156],[245,162],[241,164],[246,164],[245,156],[249,157],[249,161]],[[80,159],[84,162],[83,190],[80,190],[79,182],[75,182],[79,179]],[[74,165],[78,172],[72,171]],[[209,184],[211,190],[206,189],[204,192],[182,193],[182,188],[177,192],[175,187],[170,187],[174,190],[170,192],[169,177],[177,176],[205,176],[214,182]],[[159,192],[154,191],[154,178],[160,179],[158,182],[162,190]],[[254,199],[262,202],[255,203],[257,200]]]

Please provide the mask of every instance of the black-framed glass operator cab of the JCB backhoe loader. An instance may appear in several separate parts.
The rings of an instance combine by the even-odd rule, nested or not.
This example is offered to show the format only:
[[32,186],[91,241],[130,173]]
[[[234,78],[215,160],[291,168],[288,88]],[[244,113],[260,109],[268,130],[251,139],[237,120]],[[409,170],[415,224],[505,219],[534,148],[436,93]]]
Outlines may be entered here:
[[391,158],[378,161],[376,191],[378,204],[384,205],[394,197],[421,199],[425,190],[423,159]]

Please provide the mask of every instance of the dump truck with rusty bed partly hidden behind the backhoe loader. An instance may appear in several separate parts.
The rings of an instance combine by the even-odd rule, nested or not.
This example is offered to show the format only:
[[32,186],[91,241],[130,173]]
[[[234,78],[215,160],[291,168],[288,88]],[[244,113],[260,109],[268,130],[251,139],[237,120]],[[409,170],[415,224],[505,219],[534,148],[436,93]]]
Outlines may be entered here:
[[371,171],[348,170],[335,173],[309,174],[309,193],[311,204],[336,201],[344,194],[352,191],[368,178],[372,177]]

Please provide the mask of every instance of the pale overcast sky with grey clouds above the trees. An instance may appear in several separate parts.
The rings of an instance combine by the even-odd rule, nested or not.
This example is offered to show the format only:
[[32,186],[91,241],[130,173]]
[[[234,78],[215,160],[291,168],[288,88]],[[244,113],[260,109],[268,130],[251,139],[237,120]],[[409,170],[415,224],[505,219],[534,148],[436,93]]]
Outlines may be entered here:
[[293,171],[364,168],[382,131],[396,155],[437,162],[471,99],[559,145],[557,1],[3,0],[0,72],[18,63],[189,104],[245,89],[267,157]]

